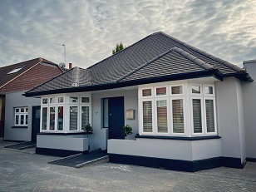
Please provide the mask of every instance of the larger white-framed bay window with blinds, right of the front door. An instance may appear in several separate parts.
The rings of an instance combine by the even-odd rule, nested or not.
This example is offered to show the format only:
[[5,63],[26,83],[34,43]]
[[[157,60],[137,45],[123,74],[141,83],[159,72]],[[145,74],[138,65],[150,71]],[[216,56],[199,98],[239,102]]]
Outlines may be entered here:
[[139,106],[142,135],[217,134],[214,84],[140,87]]

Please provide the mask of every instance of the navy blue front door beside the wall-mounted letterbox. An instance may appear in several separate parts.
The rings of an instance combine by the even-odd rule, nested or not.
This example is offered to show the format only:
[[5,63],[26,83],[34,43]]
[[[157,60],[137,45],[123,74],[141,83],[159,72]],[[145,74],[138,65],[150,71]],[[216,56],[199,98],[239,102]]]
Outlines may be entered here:
[[124,139],[125,126],[124,97],[108,98],[109,106],[109,139]]

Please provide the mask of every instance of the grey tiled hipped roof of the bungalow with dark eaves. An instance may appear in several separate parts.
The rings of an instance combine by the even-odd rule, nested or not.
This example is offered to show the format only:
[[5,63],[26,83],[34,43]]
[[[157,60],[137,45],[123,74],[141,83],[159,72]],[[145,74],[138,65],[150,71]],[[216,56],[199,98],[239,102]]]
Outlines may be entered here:
[[[76,67],[75,67],[76,68]],[[155,32],[121,52],[79,71],[79,84],[71,86],[74,68],[27,91],[25,96],[94,91],[156,81],[189,79],[199,76],[236,76],[253,81],[244,69],[170,37]]]

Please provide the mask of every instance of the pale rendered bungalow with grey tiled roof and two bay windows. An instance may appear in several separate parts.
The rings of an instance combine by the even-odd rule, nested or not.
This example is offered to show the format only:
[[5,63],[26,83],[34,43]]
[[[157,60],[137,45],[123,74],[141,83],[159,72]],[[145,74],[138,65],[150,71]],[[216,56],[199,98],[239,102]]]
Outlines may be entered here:
[[[63,156],[100,148],[116,163],[185,171],[243,168],[247,158],[256,158],[256,106],[244,94],[255,92],[246,70],[254,76],[256,70],[251,62],[244,65],[155,32],[27,91],[25,96],[41,97],[36,151]],[[83,131],[87,124],[93,134]],[[126,124],[133,133],[124,140]]]

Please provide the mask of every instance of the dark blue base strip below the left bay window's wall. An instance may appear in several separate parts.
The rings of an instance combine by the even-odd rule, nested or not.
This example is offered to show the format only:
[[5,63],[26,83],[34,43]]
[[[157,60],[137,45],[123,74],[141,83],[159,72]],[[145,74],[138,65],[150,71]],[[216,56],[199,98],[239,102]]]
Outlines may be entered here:
[[60,156],[66,157],[70,155],[76,155],[79,153],[86,153],[88,151],[78,151],[78,150],[58,150],[58,149],[49,149],[43,147],[36,147],[36,154],[40,155],[52,155],[52,156]]

